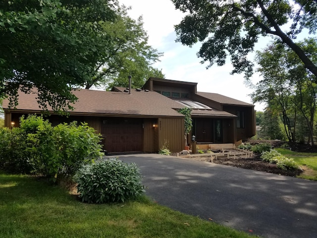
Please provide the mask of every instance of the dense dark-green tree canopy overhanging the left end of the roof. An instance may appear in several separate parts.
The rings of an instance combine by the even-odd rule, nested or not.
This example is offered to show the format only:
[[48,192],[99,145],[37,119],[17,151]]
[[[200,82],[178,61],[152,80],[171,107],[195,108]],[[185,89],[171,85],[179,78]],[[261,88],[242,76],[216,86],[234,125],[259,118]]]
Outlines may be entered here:
[[116,8],[116,0],[1,1],[0,97],[14,106],[18,89],[36,88],[44,109],[71,108],[73,86],[91,83],[112,44],[104,23],[115,20]]

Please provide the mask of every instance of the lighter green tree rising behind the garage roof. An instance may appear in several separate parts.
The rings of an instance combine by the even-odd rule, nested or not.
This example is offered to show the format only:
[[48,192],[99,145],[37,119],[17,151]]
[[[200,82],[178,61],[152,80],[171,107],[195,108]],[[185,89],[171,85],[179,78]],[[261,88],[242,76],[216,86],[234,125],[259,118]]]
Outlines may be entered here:
[[105,49],[95,68],[91,83],[86,85],[128,86],[128,75],[132,75],[132,87],[140,88],[150,77],[164,78],[161,70],[152,66],[162,55],[148,44],[148,35],[143,28],[143,19],[127,15],[129,8],[120,7],[118,16],[111,24],[102,24],[111,40],[111,47]]

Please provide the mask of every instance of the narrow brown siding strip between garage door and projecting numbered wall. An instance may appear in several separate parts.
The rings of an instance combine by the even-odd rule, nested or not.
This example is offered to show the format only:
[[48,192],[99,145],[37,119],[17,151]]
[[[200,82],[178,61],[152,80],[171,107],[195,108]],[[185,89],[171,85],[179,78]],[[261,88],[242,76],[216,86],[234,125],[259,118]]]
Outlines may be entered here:
[[158,125],[158,119],[144,119],[144,136],[143,136],[143,151],[157,152],[154,149],[154,131]]

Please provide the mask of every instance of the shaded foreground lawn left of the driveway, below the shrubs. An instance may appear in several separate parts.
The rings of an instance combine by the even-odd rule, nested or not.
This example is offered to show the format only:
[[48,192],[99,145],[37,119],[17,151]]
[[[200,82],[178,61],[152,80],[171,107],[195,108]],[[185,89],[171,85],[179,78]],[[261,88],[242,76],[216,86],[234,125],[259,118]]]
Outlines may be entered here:
[[60,186],[0,173],[1,238],[250,238],[140,197],[86,204]]

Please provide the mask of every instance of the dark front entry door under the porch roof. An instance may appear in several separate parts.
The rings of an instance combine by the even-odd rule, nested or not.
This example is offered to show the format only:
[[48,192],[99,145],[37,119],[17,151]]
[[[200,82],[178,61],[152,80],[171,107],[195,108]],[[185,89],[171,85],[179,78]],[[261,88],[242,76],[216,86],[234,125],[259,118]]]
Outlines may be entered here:
[[212,119],[197,118],[196,123],[196,141],[212,142]]

